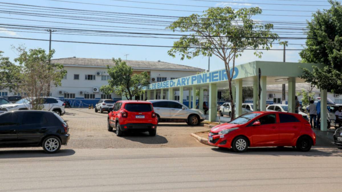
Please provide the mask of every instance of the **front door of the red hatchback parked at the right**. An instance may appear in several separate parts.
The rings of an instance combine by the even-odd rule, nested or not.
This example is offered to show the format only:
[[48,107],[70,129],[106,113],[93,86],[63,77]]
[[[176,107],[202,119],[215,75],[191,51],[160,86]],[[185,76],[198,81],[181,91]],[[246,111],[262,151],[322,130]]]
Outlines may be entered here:
[[279,143],[279,130],[276,114],[266,114],[256,121],[261,124],[252,126],[253,146],[277,146]]

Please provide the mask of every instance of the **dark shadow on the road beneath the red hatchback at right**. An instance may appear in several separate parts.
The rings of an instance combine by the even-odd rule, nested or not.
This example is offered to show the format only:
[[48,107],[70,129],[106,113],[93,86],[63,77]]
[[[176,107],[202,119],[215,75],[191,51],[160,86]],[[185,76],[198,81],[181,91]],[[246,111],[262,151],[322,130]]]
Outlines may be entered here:
[[272,155],[272,156],[280,156],[280,155],[294,155],[294,156],[339,156],[342,157],[342,149],[339,148],[324,148],[317,149],[311,148],[308,152],[300,152],[292,147],[257,147],[257,148],[248,148],[248,150],[244,153],[236,153],[232,149],[220,149],[220,148],[212,148],[213,151],[234,155]]

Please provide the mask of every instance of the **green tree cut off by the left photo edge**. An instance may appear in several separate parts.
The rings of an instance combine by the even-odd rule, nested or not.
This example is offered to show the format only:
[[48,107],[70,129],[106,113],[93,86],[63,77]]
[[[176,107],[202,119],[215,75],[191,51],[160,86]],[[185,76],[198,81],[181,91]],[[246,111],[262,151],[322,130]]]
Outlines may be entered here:
[[2,53],[0,51],[0,90],[17,91],[20,82],[20,66],[13,64],[9,57],[3,57]]

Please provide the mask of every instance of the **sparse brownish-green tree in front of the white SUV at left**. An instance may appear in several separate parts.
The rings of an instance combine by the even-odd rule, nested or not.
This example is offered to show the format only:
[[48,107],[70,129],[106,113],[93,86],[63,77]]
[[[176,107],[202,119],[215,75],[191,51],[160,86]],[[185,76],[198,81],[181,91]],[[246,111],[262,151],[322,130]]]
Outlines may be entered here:
[[67,71],[61,64],[49,64],[55,53],[54,50],[49,53],[40,48],[26,51],[23,46],[19,46],[16,50],[19,52],[19,57],[14,61],[21,67],[18,92],[27,94],[28,99],[31,100],[31,109],[40,110],[44,102],[42,97],[50,93],[51,86],[61,86],[62,78]]

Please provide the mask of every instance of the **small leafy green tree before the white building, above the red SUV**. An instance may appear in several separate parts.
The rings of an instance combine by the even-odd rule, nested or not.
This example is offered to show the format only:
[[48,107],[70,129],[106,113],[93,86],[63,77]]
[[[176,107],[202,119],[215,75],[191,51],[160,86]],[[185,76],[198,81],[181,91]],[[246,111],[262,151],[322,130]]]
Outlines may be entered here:
[[103,85],[100,91],[106,94],[115,93],[123,95],[128,100],[132,100],[133,96],[141,95],[143,87],[149,84],[149,76],[147,72],[141,74],[133,74],[133,69],[126,64],[125,61],[114,59],[114,67],[107,66],[110,76],[108,85]]

